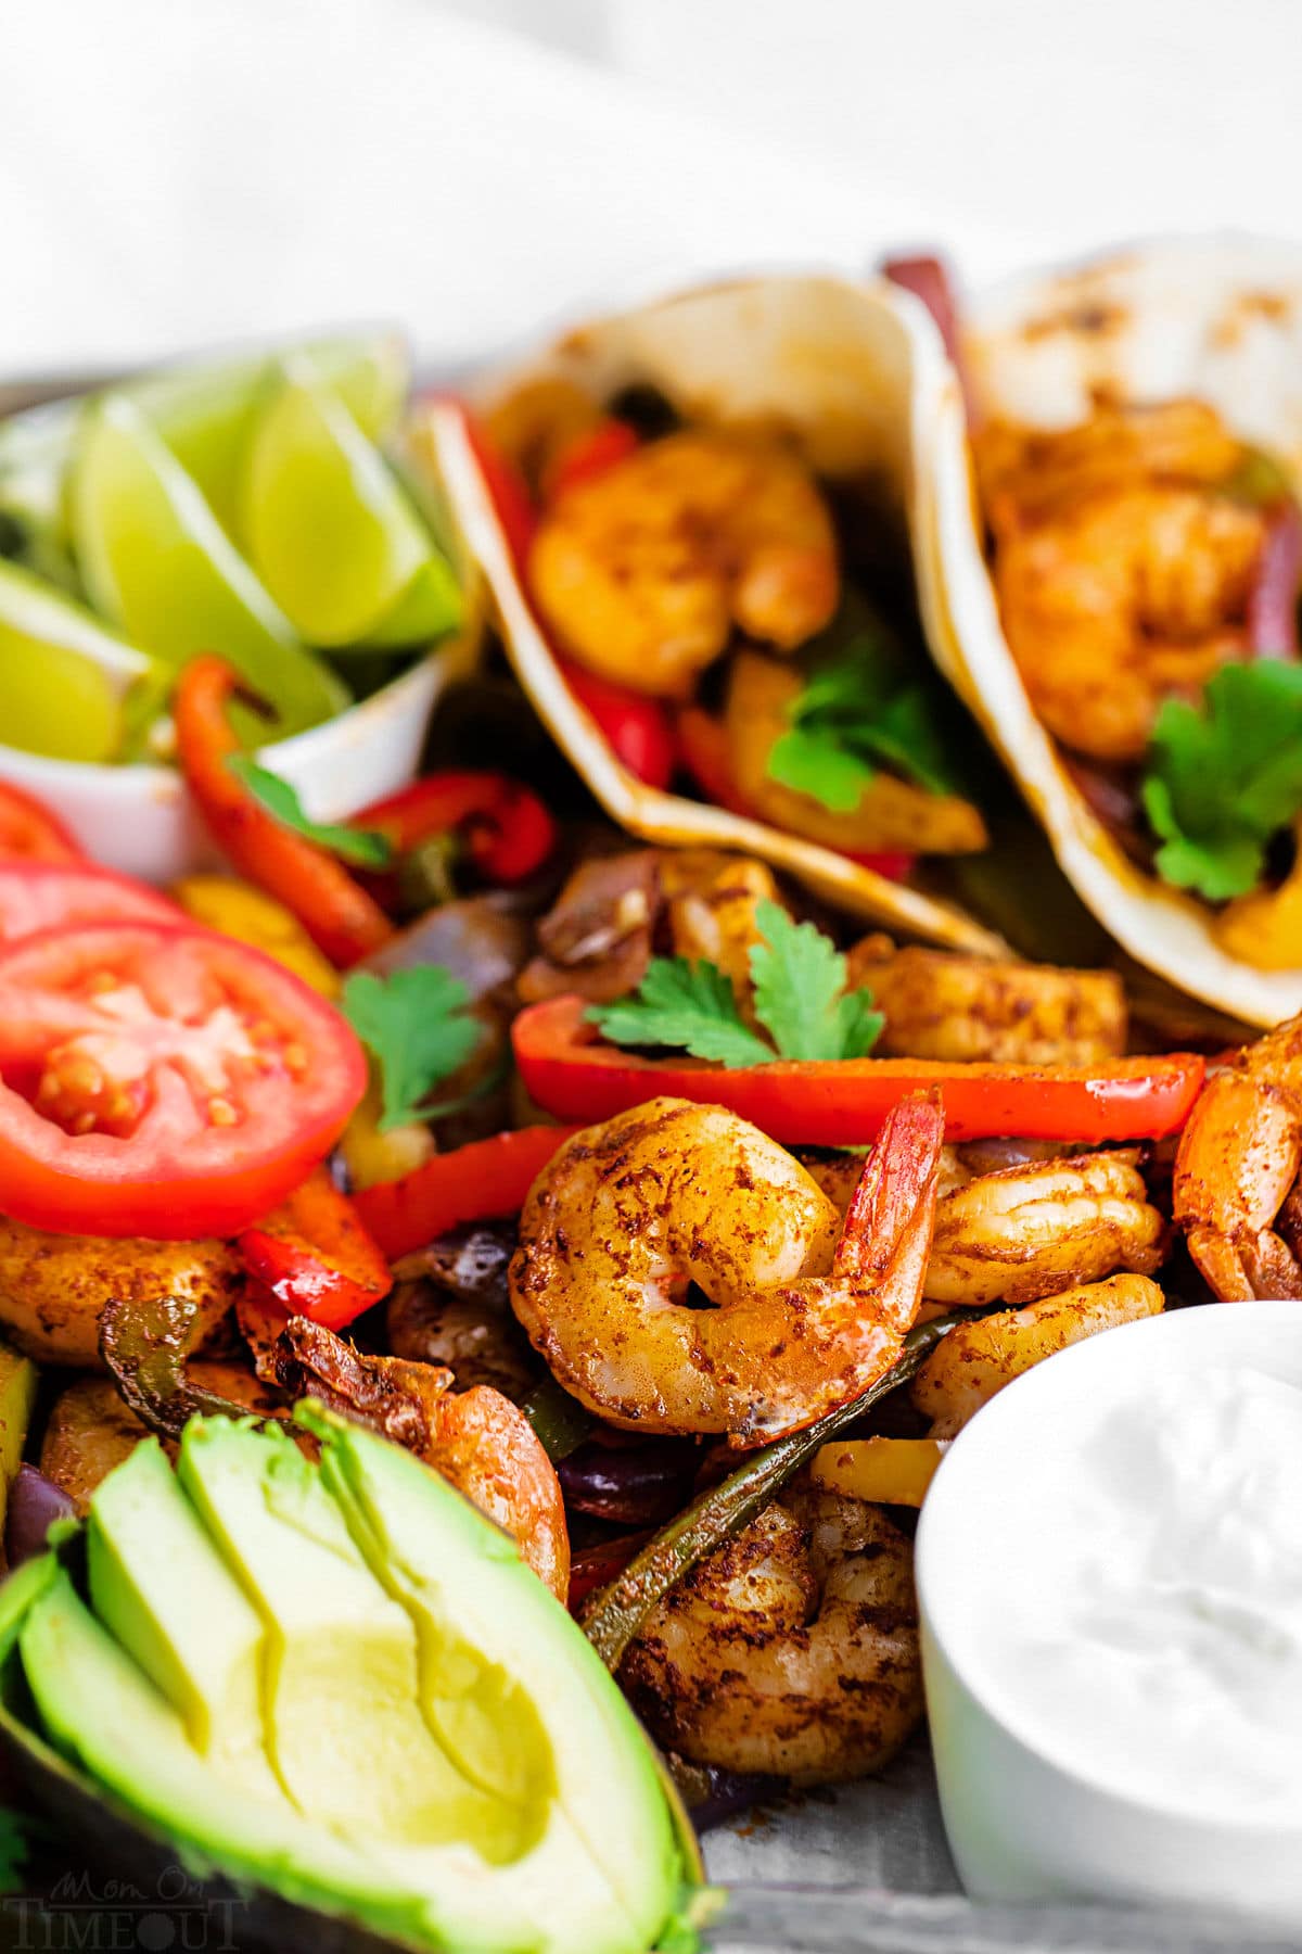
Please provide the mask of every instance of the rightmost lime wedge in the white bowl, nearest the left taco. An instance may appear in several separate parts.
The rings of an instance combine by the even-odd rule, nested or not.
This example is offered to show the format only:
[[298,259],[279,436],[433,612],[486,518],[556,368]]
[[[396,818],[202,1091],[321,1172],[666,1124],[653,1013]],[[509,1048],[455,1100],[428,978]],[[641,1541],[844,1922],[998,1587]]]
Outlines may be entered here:
[[396,475],[303,356],[258,416],[240,533],[314,645],[418,645],[461,619],[457,578]]

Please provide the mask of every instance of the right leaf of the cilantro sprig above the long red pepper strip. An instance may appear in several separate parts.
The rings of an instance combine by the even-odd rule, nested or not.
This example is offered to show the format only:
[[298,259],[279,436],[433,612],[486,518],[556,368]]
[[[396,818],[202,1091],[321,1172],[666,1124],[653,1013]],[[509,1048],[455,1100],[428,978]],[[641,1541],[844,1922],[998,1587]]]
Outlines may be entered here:
[[812,922],[793,922],[777,903],[759,903],[763,936],[750,954],[755,1016],[783,1059],[859,1059],[882,1024],[867,991],[845,991],[841,952]]

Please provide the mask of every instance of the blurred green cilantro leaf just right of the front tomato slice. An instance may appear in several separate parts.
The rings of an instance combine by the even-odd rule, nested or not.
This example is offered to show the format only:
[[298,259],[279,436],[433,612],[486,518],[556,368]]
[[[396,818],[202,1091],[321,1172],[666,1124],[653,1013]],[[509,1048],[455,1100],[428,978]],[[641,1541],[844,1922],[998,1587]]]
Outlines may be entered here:
[[447,1110],[427,1100],[482,1038],[484,1028],[465,1010],[468,1002],[467,987],[441,963],[344,979],[340,1008],[381,1069],[381,1133]]

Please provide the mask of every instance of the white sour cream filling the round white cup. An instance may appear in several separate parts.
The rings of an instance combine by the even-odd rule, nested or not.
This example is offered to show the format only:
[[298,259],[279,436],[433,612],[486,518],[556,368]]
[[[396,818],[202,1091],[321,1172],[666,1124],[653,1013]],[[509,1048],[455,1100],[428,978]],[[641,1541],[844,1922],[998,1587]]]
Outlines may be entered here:
[[976,1632],[1019,1721],[1134,1796],[1302,1821],[1302,1389],[1134,1389],[1017,1499],[1035,1553]]

